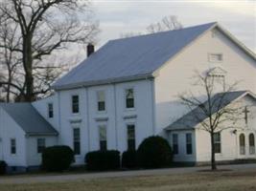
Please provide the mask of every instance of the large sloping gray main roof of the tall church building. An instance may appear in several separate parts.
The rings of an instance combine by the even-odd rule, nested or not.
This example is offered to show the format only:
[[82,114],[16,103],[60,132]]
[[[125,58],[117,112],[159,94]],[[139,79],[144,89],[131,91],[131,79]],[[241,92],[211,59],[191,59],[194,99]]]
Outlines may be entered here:
[[111,40],[58,79],[53,87],[75,88],[152,76],[166,61],[216,24]]

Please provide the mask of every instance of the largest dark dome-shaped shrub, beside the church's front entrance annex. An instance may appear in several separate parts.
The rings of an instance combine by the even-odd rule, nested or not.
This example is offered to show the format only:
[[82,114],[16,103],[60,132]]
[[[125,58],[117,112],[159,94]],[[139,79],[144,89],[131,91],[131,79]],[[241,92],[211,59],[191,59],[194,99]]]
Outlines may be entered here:
[[160,168],[171,165],[172,148],[165,138],[159,136],[145,138],[139,145],[138,162],[144,168]]

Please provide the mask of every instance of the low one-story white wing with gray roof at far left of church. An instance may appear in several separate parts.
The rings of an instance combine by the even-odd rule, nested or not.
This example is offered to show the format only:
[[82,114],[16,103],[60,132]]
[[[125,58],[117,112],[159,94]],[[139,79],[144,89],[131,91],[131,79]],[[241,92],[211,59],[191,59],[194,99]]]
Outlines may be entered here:
[[31,103],[0,103],[0,135],[0,160],[9,172],[38,168],[43,148],[58,143],[58,132]]

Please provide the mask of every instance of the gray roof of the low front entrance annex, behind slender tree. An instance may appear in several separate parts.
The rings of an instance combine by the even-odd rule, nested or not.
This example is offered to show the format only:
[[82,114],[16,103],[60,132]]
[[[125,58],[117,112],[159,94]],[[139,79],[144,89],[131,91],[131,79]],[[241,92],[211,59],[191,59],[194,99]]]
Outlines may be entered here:
[[[247,91],[237,91],[237,92],[230,92],[230,93],[220,93],[211,98],[212,101],[212,110],[211,113],[215,114],[225,106],[227,106],[229,103],[234,101],[235,99],[245,96]],[[202,104],[202,107],[206,109],[206,111],[210,111],[208,108],[208,103],[205,101]],[[198,106],[194,110],[190,111],[183,117],[180,117],[177,119],[174,123],[169,125],[165,128],[165,130],[178,130],[178,129],[193,129],[195,128],[200,122],[202,122],[204,119],[209,117],[209,115],[206,115],[205,112],[200,109]]]

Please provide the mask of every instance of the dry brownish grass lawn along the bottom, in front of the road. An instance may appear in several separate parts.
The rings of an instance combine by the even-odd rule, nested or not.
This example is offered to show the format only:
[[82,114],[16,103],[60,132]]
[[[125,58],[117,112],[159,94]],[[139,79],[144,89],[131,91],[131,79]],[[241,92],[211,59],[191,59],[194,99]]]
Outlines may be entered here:
[[197,172],[184,175],[0,184],[1,191],[256,191],[256,172]]

